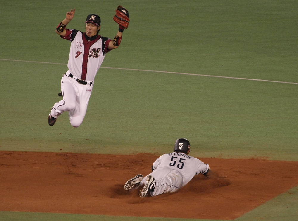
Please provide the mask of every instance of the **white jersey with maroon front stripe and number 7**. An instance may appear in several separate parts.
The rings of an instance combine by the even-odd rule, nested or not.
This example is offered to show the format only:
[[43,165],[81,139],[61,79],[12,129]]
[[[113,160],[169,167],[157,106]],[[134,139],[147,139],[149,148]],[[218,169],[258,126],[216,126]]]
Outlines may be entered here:
[[71,42],[67,67],[78,79],[94,81],[105,54],[111,51],[108,49],[111,39],[96,35],[88,41],[83,32],[75,29],[65,30],[65,37],[60,37]]

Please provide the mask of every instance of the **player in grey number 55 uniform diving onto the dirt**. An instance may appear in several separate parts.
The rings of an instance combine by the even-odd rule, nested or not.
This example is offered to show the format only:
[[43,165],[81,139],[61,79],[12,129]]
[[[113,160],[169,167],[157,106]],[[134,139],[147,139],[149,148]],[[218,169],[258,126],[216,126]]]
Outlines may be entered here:
[[140,192],[141,197],[145,197],[148,194],[156,196],[179,190],[199,173],[202,173],[207,178],[226,178],[212,173],[208,164],[188,156],[189,153],[189,141],[185,138],[176,140],[174,152],[159,157],[152,165],[152,173],[145,178],[141,174],[136,175],[134,178],[126,181],[124,189],[132,190],[143,186]]

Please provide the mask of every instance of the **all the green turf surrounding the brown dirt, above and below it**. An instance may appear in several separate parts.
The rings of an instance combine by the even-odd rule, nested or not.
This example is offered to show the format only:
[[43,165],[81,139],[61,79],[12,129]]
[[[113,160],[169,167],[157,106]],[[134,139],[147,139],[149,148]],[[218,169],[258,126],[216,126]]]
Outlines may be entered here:
[[[114,10],[131,22],[103,67],[298,83],[297,1],[4,1],[0,0],[0,150],[166,153],[179,137],[192,156],[298,161],[297,84],[100,68],[79,128],[59,101],[70,43],[55,33],[84,31],[100,15],[113,38]],[[2,60],[1,60],[2,59]],[[8,60],[3,60],[8,59]],[[237,220],[297,220],[297,187]],[[0,220],[149,220],[140,217],[0,212]],[[150,220],[173,220],[152,218]]]

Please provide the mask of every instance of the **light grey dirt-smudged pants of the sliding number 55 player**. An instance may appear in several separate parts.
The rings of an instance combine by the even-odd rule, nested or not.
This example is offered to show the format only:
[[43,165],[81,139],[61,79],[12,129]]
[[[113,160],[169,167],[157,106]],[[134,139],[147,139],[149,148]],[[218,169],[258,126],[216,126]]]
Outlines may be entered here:
[[[149,175],[155,179],[155,189],[153,193],[150,193],[151,196],[168,192],[173,193],[179,190],[183,184],[182,174],[178,170],[173,170],[169,167],[157,168]],[[145,185],[147,176],[144,177],[140,185]]]

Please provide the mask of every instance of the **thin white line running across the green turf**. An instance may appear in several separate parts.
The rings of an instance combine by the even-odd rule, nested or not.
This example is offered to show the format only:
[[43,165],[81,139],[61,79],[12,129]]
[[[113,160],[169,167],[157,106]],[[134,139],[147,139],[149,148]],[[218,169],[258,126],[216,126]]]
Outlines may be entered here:
[[[0,60],[42,63],[42,64],[54,64],[54,65],[67,65],[67,64],[63,64],[63,63],[53,63],[53,62],[23,61],[23,60],[10,60],[10,59],[0,59]],[[226,77],[226,76],[216,76],[216,75],[206,75],[206,74],[192,74],[192,73],[181,73],[181,72],[161,71],[161,70],[143,70],[143,69],[113,68],[113,67],[100,67],[100,68],[119,69],[119,70],[134,70],[134,71],[149,71],[149,72],[157,72],[157,73],[185,74],[185,75],[194,75],[194,76],[203,76],[203,77],[228,78],[228,79],[239,79],[239,80],[249,80],[249,81],[265,81],[265,82],[283,83],[283,84],[298,84],[298,83],[294,83],[294,82],[285,82],[285,81],[270,81],[270,80],[261,80],[261,79],[237,78],[237,77]]]

